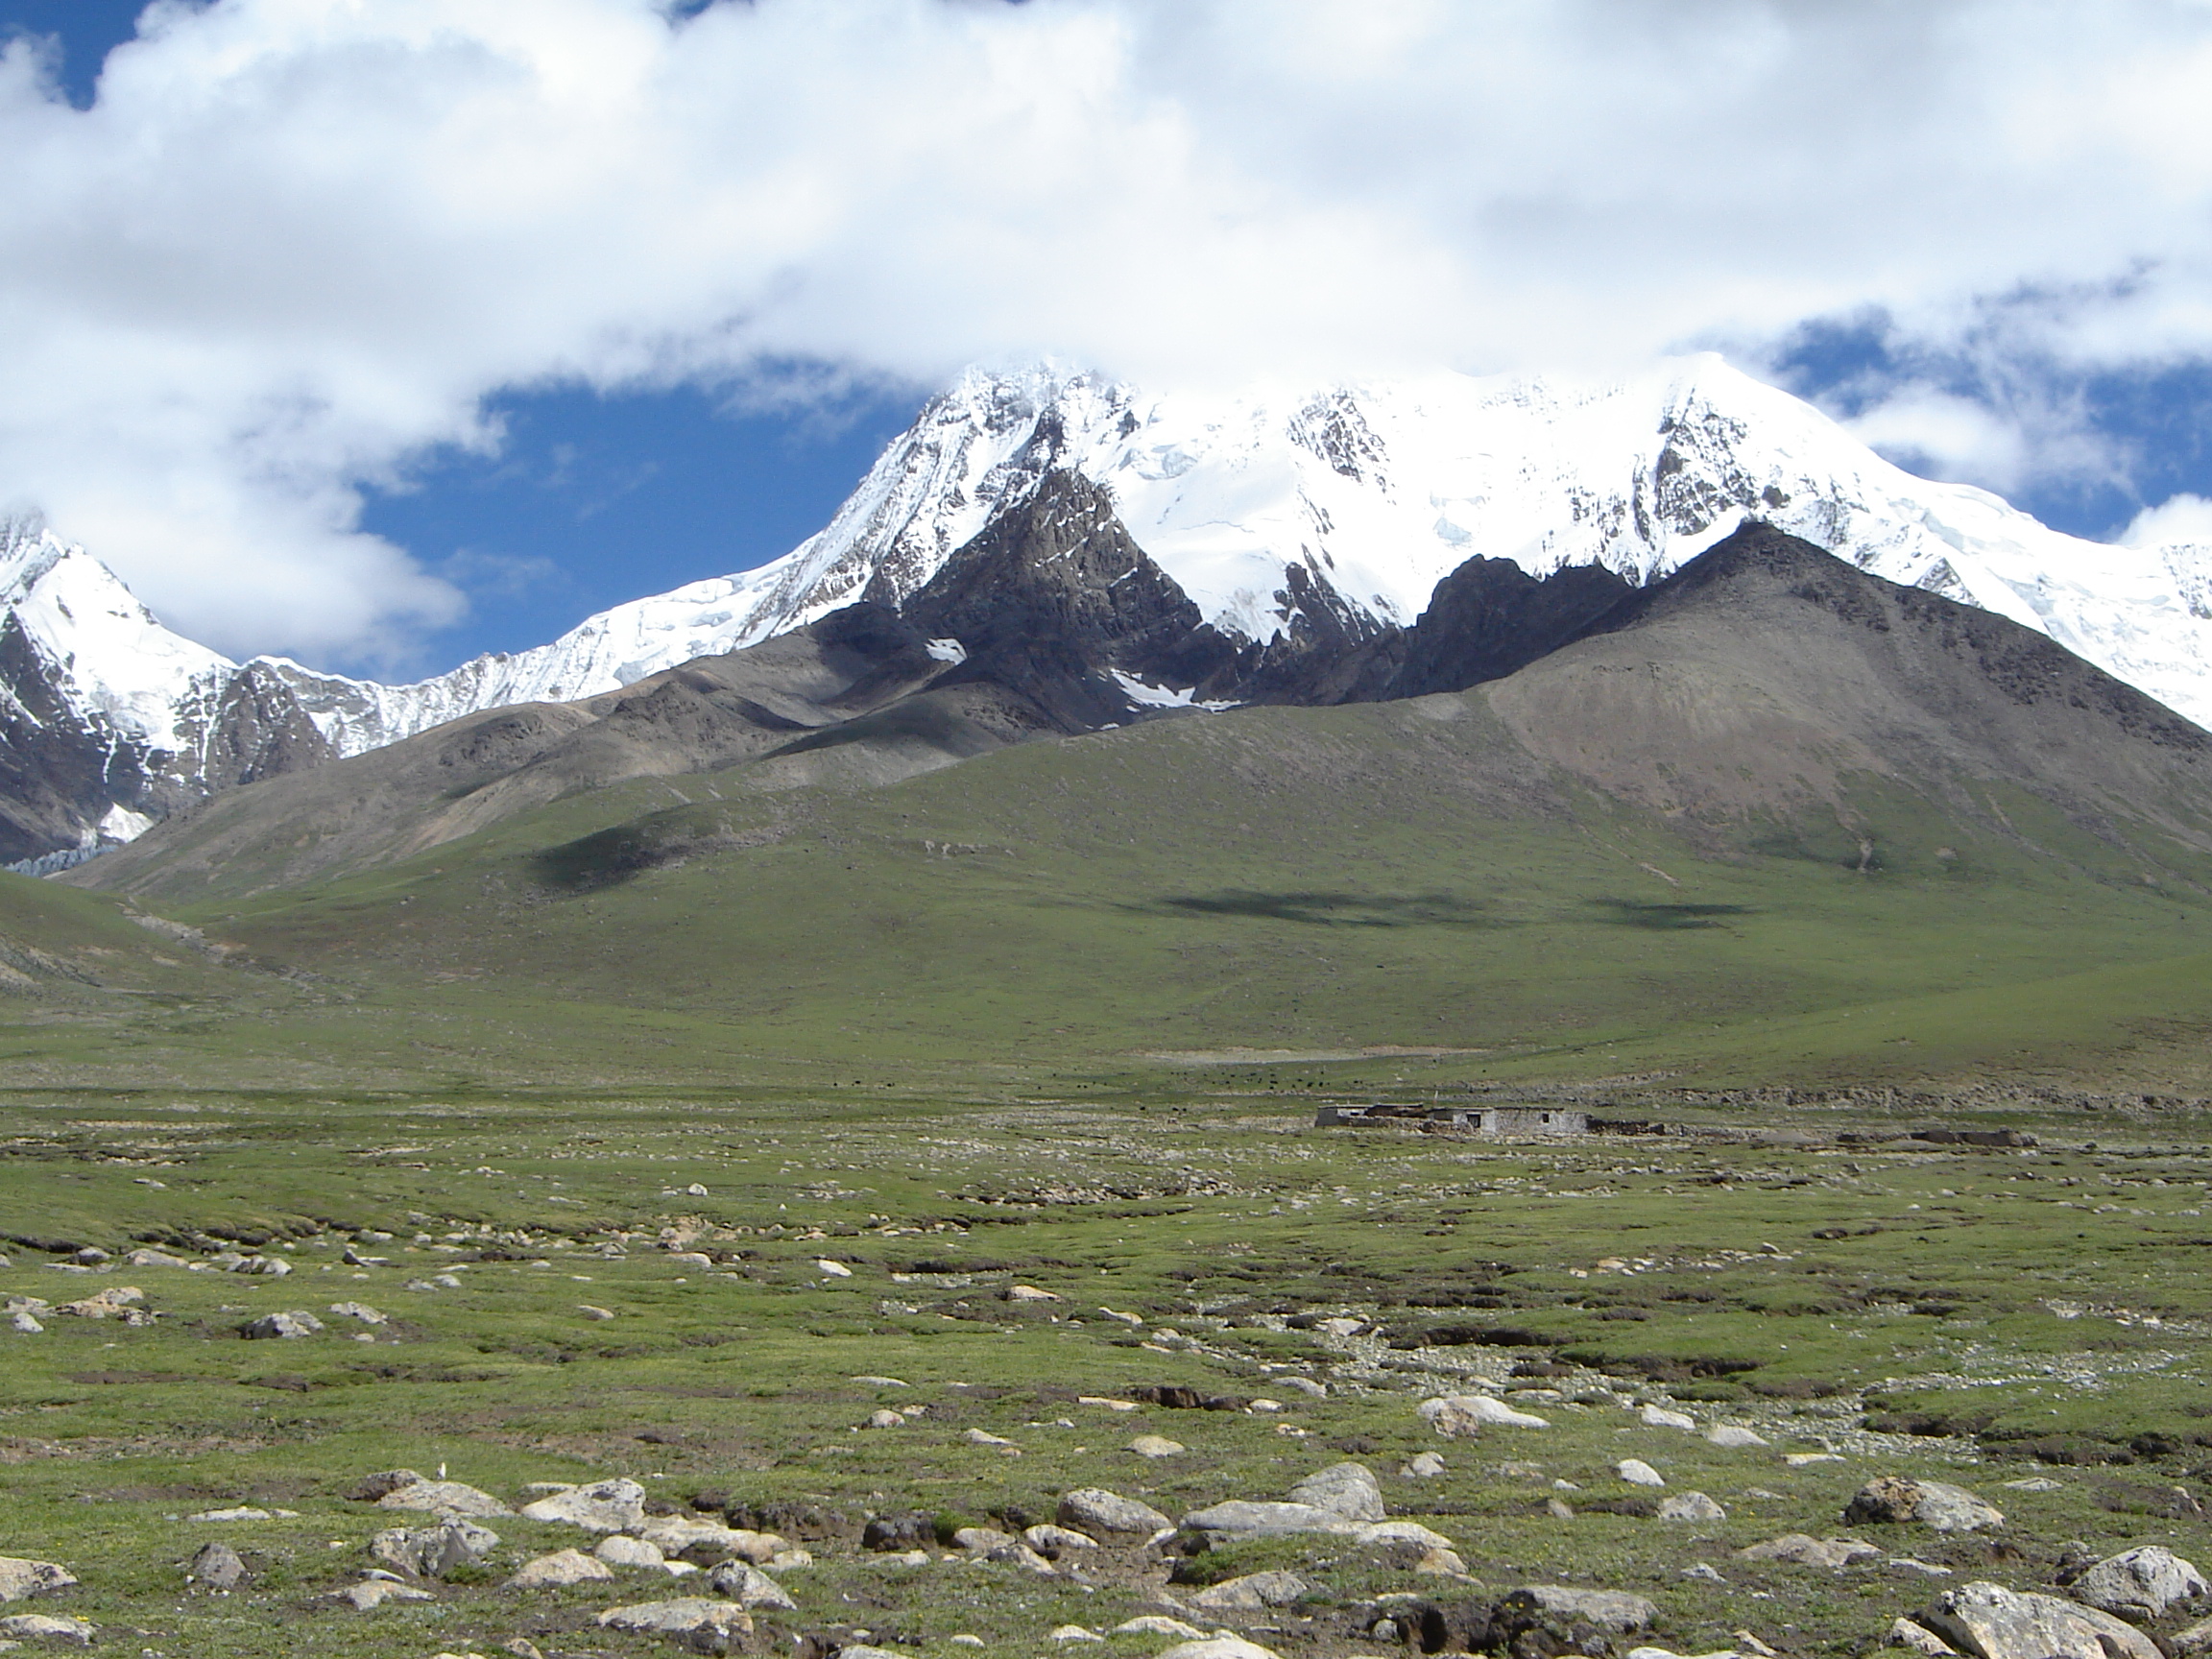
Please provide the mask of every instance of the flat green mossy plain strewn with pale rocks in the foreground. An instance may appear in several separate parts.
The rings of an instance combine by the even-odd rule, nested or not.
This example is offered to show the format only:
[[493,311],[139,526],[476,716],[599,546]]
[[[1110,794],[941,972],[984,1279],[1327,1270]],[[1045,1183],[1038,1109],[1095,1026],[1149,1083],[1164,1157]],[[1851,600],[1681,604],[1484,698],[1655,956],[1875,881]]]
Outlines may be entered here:
[[[2008,1119],[2046,1144],[1969,1150],[1840,1144],[1913,1124],[1783,1113],[1767,1139],[1513,1146],[1314,1130],[1312,1102],[1276,1082],[1274,1097],[1110,1075],[1082,1091],[15,1091],[0,1290],[64,1303],[135,1285],[157,1318],[0,1329],[0,1553],[69,1564],[82,1586],[40,1606],[95,1619],[106,1646],[420,1659],[518,1637],[646,1652],[595,1610],[684,1586],[626,1573],[502,1590],[526,1555],[588,1540],[495,1520],[480,1582],[334,1606],[321,1597],[367,1562],[369,1535],[407,1520],[343,1493],[396,1464],[442,1464],[509,1502],[529,1482],[630,1475],[686,1513],[834,1511],[807,1544],[816,1564],[783,1573],[799,1615],[763,1626],[776,1641],[867,1628],[916,1655],[960,1652],[953,1635],[1037,1655],[1055,1626],[1106,1630],[1161,1593],[1272,1566],[1316,1586],[1248,1619],[1290,1655],[1374,1652],[1356,1624],[1378,1595],[1522,1582],[1650,1595],[1679,1652],[1745,1628],[1792,1655],[1863,1652],[1929,1577],[1734,1551],[1843,1533],[1849,1493],[1878,1473],[1953,1480],[2006,1511],[1989,1535],[1858,1528],[1960,1577],[2037,1588],[2070,1540],[2212,1555],[2199,1121]],[[192,1261],[243,1245],[292,1272],[49,1265],[64,1245],[144,1243]],[[1004,1301],[1018,1283],[1057,1301]],[[387,1323],[330,1312],[343,1301]],[[327,1329],[239,1336],[294,1307]],[[1360,1325],[1334,1334],[1329,1316]],[[1416,1418],[1427,1394],[1475,1383],[1551,1427],[1444,1440]],[[1283,1409],[1084,1402],[1157,1385]],[[1644,1427],[1641,1402],[1770,1444]],[[916,1405],[905,1427],[860,1427]],[[1137,1458],[1137,1433],[1186,1451]],[[1447,1473],[1400,1478],[1418,1451]],[[1394,1513],[1451,1537],[1475,1584],[1343,1540],[1239,1544],[1186,1562],[1177,1586],[1170,1562],[1128,1553],[1084,1586],[856,1544],[869,1513],[1011,1528],[1093,1484],[1181,1515],[1279,1498],[1347,1455]],[[1728,1520],[1632,1513],[1650,1493],[1613,1475],[1628,1455]],[[241,1504],[294,1513],[186,1520]],[[210,1537],[246,1553],[246,1590],[184,1593],[179,1564]],[[1699,1562],[1723,1582],[1683,1577]]]

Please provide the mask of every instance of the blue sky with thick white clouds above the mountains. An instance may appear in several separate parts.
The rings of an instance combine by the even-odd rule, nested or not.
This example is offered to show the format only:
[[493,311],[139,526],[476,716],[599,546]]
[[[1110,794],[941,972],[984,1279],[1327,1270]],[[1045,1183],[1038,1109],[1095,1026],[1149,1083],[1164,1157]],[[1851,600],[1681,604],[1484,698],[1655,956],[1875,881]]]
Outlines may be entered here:
[[1719,345],[2059,529],[2212,535],[2172,0],[221,0],[95,104],[137,13],[0,0],[55,42],[0,60],[0,509],[239,655],[431,672],[750,568],[1040,352]]

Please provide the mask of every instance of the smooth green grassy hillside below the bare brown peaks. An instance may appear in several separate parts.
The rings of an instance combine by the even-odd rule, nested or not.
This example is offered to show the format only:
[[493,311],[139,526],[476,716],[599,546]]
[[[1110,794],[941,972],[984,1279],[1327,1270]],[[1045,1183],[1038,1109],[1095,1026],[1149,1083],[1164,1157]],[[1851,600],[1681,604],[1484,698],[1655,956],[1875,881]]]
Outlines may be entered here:
[[679,785],[188,911],[365,993],[201,1035],[453,1077],[1283,1051],[1349,1082],[1409,1046],[1462,1051],[1420,1077],[1827,1082],[2188,1046],[2212,980],[2203,872],[2154,838],[1865,781],[1860,872],[1832,805],[1666,823],[1502,761],[1480,697],[1157,723],[872,794]]

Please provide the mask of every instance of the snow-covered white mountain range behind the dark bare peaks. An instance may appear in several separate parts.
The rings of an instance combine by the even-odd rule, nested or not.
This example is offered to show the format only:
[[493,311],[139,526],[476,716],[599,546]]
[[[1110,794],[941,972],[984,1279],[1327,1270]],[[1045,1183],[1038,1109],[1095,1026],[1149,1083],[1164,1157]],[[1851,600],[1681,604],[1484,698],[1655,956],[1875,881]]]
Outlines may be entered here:
[[[1610,383],[1433,374],[1237,396],[1148,394],[1053,367],[969,372],[783,560],[411,686],[272,657],[232,664],[161,628],[82,549],[18,526],[0,531],[0,699],[13,699],[0,712],[71,726],[106,757],[84,783],[108,799],[88,799],[71,834],[124,838],[195,792],[272,768],[484,708],[615,690],[860,597],[902,604],[1053,469],[1102,487],[1232,639],[1411,624],[1473,555],[1650,582],[1761,518],[2037,628],[2212,723],[2212,546],[2062,535],[1986,491],[1891,467],[1714,356]],[[44,714],[35,686],[53,701]]]

